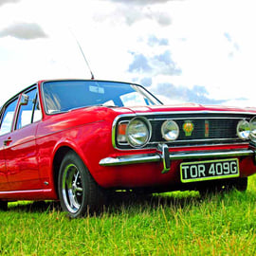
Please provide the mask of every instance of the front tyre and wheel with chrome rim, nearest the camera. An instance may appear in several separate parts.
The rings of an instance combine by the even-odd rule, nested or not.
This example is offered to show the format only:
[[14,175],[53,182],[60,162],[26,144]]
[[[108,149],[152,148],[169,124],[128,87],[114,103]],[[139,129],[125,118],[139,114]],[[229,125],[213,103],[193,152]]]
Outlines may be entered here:
[[105,204],[103,189],[74,152],[64,156],[59,172],[58,192],[61,207],[71,218],[98,212]]

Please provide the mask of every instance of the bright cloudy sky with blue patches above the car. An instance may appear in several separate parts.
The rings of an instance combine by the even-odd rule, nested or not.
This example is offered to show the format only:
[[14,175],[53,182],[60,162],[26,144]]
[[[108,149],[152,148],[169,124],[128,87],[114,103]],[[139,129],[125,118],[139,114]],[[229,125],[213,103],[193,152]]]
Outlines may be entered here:
[[41,79],[137,82],[167,103],[256,106],[255,0],[0,0],[0,105]]

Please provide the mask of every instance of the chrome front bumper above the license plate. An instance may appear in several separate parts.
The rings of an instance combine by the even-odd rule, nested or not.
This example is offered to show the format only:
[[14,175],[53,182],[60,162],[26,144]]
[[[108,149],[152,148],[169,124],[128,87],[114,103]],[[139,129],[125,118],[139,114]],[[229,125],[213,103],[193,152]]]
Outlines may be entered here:
[[[165,151],[166,152],[166,151]],[[170,161],[172,160],[185,160],[185,159],[201,159],[201,158],[218,158],[218,157],[238,157],[238,156],[251,156],[256,160],[256,152],[253,149],[243,150],[225,150],[225,151],[198,151],[198,152],[178,152],[169,153],[166,155],[164,151],[159,151],[155,154],[143,155],[122,155],[119,157],[106,157],[101,159],[101,166],[119,166],[137,163],[151,163],[163,161],[164,169],[162,174],[170,171]],[[167,163],[169,161],[169,163]]]

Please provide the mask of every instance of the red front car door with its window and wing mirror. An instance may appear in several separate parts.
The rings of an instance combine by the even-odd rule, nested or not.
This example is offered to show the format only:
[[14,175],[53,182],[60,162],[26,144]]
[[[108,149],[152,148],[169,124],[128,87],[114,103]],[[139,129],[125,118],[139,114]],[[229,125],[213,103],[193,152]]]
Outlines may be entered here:
[[20,96],[13,131],[4,151],[10,191],[42,189],[35,143],[38,120],[41,119],[37,106],[36,87]]

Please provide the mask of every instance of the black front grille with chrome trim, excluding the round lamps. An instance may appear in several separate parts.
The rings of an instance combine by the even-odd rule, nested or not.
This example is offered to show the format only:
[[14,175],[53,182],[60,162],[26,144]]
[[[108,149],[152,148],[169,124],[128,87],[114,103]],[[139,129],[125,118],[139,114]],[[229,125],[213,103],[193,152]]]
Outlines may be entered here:
[[[247,143],[237,136],[236,127],[242,119],[252,119],[255,115],[247,113],[169,113],[169,114],[139,114],[148,119],[152,126],[152,137],[144,148],[155,148],[158,143],[165,143],[169,147],[179,146],[200,146],[200,145],[216,145],[216,144],[235,144]],[[123,115],[118,120],[129,121],[135,118],[135,115]],[[166,141],[161,135],[161,125],[167,119],[173,119],[179,127],[179,137],[174,141]],[[183,130],[184,122],[191,121],[193,131],[191,136],[186,136]],[[208,128],[207,128],[208,127]],[[208,129],[208,132],[206,131]],[[119,149],[131,149],[128,143],[118,144]]]

